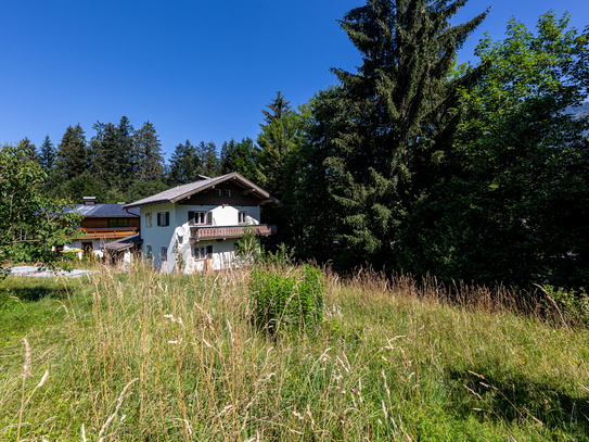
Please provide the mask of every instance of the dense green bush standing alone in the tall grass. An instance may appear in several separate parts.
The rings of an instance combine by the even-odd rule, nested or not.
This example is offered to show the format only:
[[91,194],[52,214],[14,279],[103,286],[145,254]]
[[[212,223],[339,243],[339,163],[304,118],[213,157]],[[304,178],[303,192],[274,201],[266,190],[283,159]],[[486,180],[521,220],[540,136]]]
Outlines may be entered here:
[[284,276],[256,268],[249,277],[254,323],[271,334],[281,327],[310,330],[323,318],[324,291],[321,270],[308,264]]

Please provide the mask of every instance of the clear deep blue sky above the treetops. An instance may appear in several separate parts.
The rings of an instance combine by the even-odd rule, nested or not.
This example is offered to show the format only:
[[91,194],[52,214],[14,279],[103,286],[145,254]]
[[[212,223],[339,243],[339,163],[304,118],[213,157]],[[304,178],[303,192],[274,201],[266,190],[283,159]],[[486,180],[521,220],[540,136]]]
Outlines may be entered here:
[[[330,67],[360,58],[336,23],[360,0],[4,1],[0,15],[0,142],[68,125],[151,121],[169,156],[187,138],[256,138],[278,90],[292,104],[335,83]],[[483,33],[503,38],[510,16],[533,28],[549,10],[589,25],[588,0],[470,0],[466,21],[492,5],[460,61],[476,62]]]

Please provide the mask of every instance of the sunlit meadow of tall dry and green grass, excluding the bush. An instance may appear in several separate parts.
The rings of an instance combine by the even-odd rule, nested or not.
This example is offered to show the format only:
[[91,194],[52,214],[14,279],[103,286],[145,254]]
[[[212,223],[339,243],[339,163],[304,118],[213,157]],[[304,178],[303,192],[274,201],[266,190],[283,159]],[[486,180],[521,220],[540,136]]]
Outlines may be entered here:
[[326,277],[322,325],[276,338],[247,270],[9,277],[0,441],[589,440],[589,332],[561,313]]

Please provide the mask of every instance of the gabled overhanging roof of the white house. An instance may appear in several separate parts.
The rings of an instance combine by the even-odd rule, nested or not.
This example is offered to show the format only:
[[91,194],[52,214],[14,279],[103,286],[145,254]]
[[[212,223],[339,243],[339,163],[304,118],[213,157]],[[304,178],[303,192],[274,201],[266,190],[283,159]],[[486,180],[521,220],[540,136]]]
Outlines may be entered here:
[[223,182],[230,181],[231,184],[234,184],[243,189],[248,190],[248,194],[258,198],[264,203],[268,203],[269,205],[282,205],[282,203],[272,197],[270,193],[268,193],[266,190],[264,190],[261,187],[256,186],[252,181],[249,181],[247,178],[243,177],[242,175],[238,174],[236,172],[232,172],[231,174],[221,175],[220,177],[216,178],[206,178],[201,179],[199,181],[190,182],[188,185],[178,186],[168,190],[164,190],[163,192],[156,193],[152,197],[144,198],[142,200],[136,201],[130,204],[126,204],[123,206],[123,209],[131,209],[131,207],[141,207],[144,205],[152,205],[152,204],[162,204],[162,203],[176,203],[183,199],[190,198],[194,193],[199,193],[203,190],[213,189],[217,185],[221,185]]

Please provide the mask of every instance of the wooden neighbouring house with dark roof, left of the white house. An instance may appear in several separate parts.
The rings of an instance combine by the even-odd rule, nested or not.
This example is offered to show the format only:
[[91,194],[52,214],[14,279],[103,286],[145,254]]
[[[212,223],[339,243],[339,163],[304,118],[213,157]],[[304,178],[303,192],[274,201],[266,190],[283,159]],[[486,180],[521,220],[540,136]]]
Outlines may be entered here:
[[108,250],[107,244],[114,241],[131,236],[140,238],[139,209],[126,211],[124,203],[97,204],[95,201],[95,197],[85,197],[84,204],[76,205],[76,211],[84,215],[80,227],[86,230],[86,236],[68,244],[71,248],[102,255],[102,251]]

